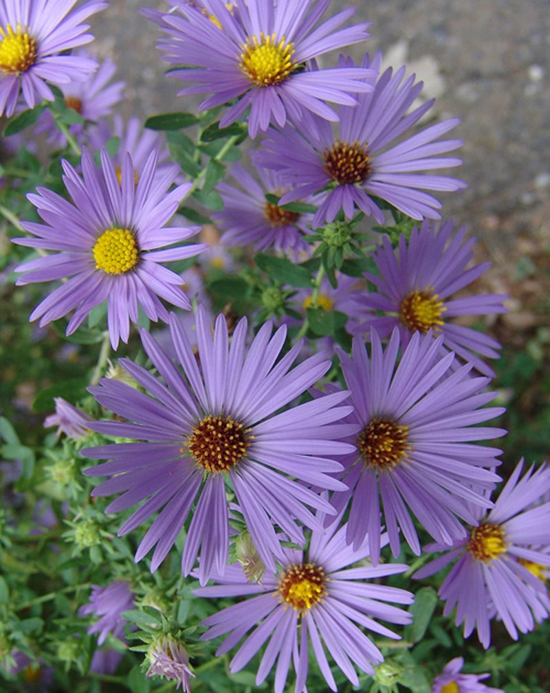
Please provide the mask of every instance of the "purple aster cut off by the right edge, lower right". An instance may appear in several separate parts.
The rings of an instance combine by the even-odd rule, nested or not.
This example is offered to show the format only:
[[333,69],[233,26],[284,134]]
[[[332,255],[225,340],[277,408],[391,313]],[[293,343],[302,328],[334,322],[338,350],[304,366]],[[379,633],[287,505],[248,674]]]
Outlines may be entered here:
[[550,555],[541,546],[550,545],[550,501],[533,505],[550,491],[550,467],[534,465],[523,478],[523,459],[500,492],[492,510],[484,517],[479,508],[476,525],[452,548],[429,544],[427,552],[445,551],[413,577],[421,579],[455,561],[443,581],[439,596],[445,601],[443,614],[456,606],[455,624],[464,622],[467,638],[477,629],[479,642],[490,644],[490,621],[497,616],[510,637],[528,633],[550,613],[550,599],[540,569],[550,566]]

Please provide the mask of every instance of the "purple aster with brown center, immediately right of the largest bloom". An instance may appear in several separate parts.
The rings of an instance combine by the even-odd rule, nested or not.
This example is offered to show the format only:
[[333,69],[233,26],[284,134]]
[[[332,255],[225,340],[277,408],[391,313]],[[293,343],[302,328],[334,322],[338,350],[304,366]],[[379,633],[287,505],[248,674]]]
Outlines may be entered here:
[[349,439],[354,453],[343,459],[349,490],[335,493],[332,502],[337,509],[350,502],[347,541],[356,547],[368,533],[376,565],[382,522],[394,556],[400,550],[398,527],[413,552],[420,554],[412,516],[441,543],[465,535],[457,516],[475,523],[468,503],[490,507],[482,491],[494,488],[500,479],[492,468],[500,464],[495,455],[501,450],[476,441],[506,431],[476,425],[504,409],[484,406],[496,393],[485,392],[490,379],[472,376],[472,365],[450,372],[454,355],[440,356],[442,337],[434,340],[416,333],[402,349],[399,365],[397,329],[385,351],[375,331],[371,340],[370,358],[358,337],[352,358],[339,353],[354,405],[348,419],[357,424],[359,435]]

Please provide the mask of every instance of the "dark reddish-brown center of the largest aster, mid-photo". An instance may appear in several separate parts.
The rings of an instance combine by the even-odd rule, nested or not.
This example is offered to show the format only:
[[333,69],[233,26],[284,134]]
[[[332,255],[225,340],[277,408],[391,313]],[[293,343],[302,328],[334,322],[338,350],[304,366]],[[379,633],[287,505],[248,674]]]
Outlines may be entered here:
[[226,472],[246,454],[254,438],[249,432],[250,428],[243,428],[231,416],[205,416],[194,426],[181,451],[190,453],[208,472]]

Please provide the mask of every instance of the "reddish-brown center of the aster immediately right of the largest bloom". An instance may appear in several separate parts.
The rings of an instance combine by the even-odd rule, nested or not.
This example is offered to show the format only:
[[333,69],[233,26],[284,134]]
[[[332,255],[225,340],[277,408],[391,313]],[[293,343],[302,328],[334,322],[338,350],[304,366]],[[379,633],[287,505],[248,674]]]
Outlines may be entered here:
[[399,426],[391,419],[372,419],[357,439],[357,448],[367,466],[381,471],[393,469],[411,450],[407,442],[409,426]]

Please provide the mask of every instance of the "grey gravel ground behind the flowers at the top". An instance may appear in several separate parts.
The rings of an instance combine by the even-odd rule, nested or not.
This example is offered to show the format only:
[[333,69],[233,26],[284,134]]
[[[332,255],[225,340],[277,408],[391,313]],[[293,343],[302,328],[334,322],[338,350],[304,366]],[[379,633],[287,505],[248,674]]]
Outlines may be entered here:
[[[299,1],[299,0],[296,0]],[[180,82],[164,76],[159,35],[139,15],[143,0],[112,0],[92,18],[100,55],[111,55],[128,82],[121,112],[141,118],[192,110],[175,96]],[[334,12],[347,6],[334,0]],[[164,0],[151,7],[166,9]],[[388,64],[406,63],[437,97],[434,119],[461,118],[460,175],[469,188],[442,198],[446,218],[467,223],[492,258],[506,262],[517,238],[550,242],[550,1],[386,0],[355,3],[370,21],[370,39],[353,46],[382,50]],[[327,63],[328,64],[328,63]],[[456,172],[456,169],[454,170]]]

